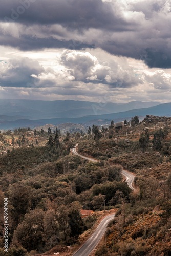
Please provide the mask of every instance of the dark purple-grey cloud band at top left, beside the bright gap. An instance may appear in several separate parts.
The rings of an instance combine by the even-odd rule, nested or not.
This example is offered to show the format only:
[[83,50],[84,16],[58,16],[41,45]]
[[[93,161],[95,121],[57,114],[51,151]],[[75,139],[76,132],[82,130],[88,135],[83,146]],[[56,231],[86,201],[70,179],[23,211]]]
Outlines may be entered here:
[[126,23],[101,0],[9,0],[0,1],[1,20],[18,23],[61,24],[69,29],[104,28],[127,30]]

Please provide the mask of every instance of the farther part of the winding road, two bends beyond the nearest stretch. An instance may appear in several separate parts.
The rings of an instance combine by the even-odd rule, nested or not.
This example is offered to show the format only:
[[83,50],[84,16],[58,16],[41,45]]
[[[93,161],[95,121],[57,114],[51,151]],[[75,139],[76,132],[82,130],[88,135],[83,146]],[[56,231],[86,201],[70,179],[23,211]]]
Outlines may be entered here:
[[[84,159],[88,159],[89,161],[92,161],[92,162],[99,162],[98,160],[96,159],[93,159],[93,158],[90,158],[90,157],[85,157],[85,156],[82,156],[80,155],[79,153],[77,153],[76,151],[76,147],[78,146],[78,144],[76,144],[76,146],[74,148],[72,148],[72,153],[75,154],[75,155],[78,155]],[[135,191],[136,189],[133,187],[133,182],[134,182],[134,178],[135,178],[135,174],[129,172],[128,170],[122,170],[122,174],[126,177],[126,182],[127,182],[127,185],[133,190]]]

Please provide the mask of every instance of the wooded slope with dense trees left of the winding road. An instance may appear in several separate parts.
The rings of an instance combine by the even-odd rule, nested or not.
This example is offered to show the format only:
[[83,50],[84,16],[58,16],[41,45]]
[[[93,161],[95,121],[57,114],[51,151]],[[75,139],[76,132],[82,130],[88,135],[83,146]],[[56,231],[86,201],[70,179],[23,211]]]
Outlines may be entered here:
[[103,190],[110,188],[108,201],[117,190],[129,198],[120,165],[90,163],[70,154],[80,137],[80,133],[60,137],[58,131],[48,134],[27,129],[2,134],[0,255],[7,255],[3,254],[4,198],[8,198],[9,255],[25,255],[26,251],[33,255],[61,244],[74,245],[79,234],[96,221],[96,217],[82,219],[80,209],[104,208],[105,196],[97,184]]

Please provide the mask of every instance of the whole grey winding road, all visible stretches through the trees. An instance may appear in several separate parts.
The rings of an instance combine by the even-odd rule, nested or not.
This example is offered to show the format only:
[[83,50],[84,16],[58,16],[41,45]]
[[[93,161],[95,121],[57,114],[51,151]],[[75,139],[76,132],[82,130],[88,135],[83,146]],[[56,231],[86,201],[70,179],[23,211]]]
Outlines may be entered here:
[[[90,158],[90,157],[85,157],[80,155],[79,153],[77,153],[76,151],[76,147],[78,146],[78,144],[72,148],[72,153],[75,155],[78,155],[84,159],[88,159],[92,162],[98,162],[98,160]],[[135,178],[135,174],[127,171],[127,170],[122,170],[122,174],[126,177],[126,182],[129,185],[129,187],[132,190],[136,190],[133,187],[133,181]],[[95,230],[95,232],[92,234],[92,236],[86,241],[86,243],[84,243],[81,248],[79,248],[78,251],[76,251],[73,256],[89,256],[91,254],[91,252],[95,249],[95,247],[98,245],[100,239],[103,237],[106,228],[109,224],[109,222],[114,218],[115,214],[110,214],[108,216],[106,216],[99,224],[99,226],[97,227],[97,229]]]

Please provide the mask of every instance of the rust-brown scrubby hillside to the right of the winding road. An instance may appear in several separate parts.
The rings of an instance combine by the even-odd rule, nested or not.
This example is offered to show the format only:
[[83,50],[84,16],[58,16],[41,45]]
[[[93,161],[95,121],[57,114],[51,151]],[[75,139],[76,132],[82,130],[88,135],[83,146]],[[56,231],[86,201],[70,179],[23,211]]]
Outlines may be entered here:
[[81,154],[136,173],[139,189],[130,201],[118,200],[116,218],[92,255],[170,255],[171,118],[163,122],[148,115],[131,131],[127,128],[104,131],[97,143],[79,144]]

